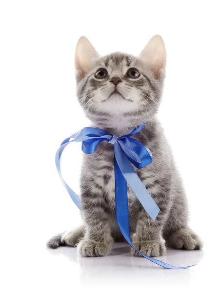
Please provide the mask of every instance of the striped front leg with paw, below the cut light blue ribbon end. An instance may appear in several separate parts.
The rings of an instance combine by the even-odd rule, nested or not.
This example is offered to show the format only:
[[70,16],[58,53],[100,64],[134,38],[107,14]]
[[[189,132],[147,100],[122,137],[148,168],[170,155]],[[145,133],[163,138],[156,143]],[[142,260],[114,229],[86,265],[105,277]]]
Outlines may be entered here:
[[[139,213],[136,235],[133,238],[133,246],[146,256],[161,256],[166,252],[166,247],[162,241],[162,228],[166,216],[166,209],[161,210],[156,220],[153,221],[142,209]],[[141,256],[133,248],[131,252],[134,256]]]

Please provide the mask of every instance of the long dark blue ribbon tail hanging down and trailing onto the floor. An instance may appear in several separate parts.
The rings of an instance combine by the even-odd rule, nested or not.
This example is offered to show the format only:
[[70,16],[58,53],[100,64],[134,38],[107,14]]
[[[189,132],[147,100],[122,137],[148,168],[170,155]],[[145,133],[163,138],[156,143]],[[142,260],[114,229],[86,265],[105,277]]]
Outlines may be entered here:
[[117,163],[116,156],[114,158],[114,166],[115,166],[115,201],[116,201],[116,219],[121,234],[125,238],[125,240],[129,243],[129,245],[134,248],[141,256],[147,258],[153,263],[166,268],[166,269],[187,269],[188,267],[176,267],[167,263],[164,263],[158,259],[145,256],[141,254],[133,245],[130,238],[129,232],[129,213],[128,213],[128,196],[127,196],[127,183],[126,180],[121,173],[119,168],[119,164]]

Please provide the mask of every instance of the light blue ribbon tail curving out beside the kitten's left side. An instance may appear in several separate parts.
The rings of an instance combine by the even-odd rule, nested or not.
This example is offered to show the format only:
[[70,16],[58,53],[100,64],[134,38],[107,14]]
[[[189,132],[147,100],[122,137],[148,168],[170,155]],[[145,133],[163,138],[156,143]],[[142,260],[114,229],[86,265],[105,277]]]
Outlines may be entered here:
[[67,192],[69,193],[72,201],[74,201],[74,203],[77,205],[77,207],[81,210],[80,197],[70,188],[70,186],[67,183],[65,183],[65,181],[62,178],[61,169],[60,169],[61,154],[62,154],[64,148],[71,142],[73,142],[73,141],[62,144],[59,147],[59,149],[57,150],[57,152],[56,152],[56,168],[57,168],[57,171],[59,173],[60,180],[62,181],[64,187],[66,188]]

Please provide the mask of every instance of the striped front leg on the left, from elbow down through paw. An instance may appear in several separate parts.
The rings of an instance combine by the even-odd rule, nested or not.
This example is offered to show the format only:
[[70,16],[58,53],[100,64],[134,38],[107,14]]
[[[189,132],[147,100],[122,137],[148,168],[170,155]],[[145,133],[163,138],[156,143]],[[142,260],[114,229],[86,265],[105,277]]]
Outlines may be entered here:
[[85,237],[78,245],[81,256],[106,256],[113,237],[107,218],[107,206],[100,194],[81,194],[82,212],[86,223]]

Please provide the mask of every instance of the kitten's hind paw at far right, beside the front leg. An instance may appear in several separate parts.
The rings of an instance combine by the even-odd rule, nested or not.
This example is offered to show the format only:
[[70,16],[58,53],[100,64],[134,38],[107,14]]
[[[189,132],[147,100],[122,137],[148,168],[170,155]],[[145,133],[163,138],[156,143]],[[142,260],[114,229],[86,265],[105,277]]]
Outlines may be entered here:
[[167,244],[177,249],[194,250],[203,247],[203,241],[189,227],[176,231],[171,237],[167,238]]

